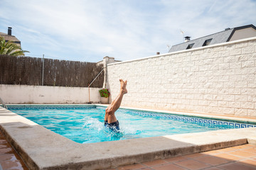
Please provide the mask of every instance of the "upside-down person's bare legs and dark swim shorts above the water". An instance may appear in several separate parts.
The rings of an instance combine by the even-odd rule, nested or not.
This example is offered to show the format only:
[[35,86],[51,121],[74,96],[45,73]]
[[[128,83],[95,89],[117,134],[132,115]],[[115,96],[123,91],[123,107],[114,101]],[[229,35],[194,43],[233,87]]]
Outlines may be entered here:
[[124,94],[127,94],[127,81],[123,81],[122,79],[120,81],[120,92],[114,101],[110,104],[110,106],[107,107],[106,113],[105,113],[105,126],[108,126],[109,128],[119,130],[119,122],[117,118],[114,115],[114,112],[117,111],[117,109],[120,107],[122,98]]

